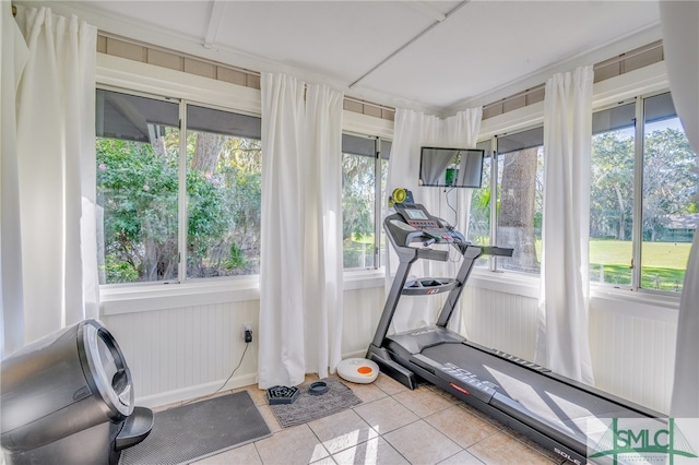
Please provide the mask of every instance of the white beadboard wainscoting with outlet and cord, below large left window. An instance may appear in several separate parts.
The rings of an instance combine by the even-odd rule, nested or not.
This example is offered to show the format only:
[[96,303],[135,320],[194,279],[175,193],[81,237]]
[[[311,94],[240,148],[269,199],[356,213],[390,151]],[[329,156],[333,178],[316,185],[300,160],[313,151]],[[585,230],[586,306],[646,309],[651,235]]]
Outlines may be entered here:
[[215,392],[240,361],[244,325],[253,339],[226,389],[253,384],[259,300],[102,317],[129,363],[139,405],[155,407]]

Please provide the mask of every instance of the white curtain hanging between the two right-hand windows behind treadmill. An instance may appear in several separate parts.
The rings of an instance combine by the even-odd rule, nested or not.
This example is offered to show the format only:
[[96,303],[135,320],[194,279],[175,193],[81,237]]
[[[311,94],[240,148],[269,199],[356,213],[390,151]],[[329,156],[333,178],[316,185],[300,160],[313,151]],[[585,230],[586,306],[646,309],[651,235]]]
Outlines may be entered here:
[[544,223],[536,362],[593,384],[588,341],[592,67],[555,74],[544,100]]

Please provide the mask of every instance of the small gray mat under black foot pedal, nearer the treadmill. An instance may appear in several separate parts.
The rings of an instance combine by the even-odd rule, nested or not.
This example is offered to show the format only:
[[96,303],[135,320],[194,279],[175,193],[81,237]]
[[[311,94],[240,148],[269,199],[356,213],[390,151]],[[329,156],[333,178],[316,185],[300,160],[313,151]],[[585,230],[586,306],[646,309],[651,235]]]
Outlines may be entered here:
[[330,388],[322,395],[308,393],[310,383],[298,386],[299,396],[293,404],[270,405],[282,428],[327,417],[345,408],[362,404],[352,390],[334,378],[321,380]]

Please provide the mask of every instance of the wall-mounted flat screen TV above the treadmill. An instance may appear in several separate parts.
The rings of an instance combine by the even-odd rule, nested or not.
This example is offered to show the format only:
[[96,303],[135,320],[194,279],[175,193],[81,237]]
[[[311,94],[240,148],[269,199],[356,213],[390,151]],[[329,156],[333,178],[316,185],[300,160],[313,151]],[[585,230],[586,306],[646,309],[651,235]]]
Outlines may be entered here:
[[440,188],[481,188],[482,148],[422,147],[419,186]]

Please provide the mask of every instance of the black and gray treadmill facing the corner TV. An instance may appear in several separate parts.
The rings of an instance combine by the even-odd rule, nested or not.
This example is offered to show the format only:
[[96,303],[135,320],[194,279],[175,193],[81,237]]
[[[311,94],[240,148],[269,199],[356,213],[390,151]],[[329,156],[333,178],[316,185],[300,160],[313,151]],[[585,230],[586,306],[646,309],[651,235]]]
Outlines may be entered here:
[[[417,388],[418,380],[441,388],[554,452],[561,462],[591,462],[588,446],[601,440],[607,431],[604,421],[609,418],[665,424],[660,413],[474,344],[448,330],[446,326],[475,261],[483,254],[511,257],[512,249],[474,246],[446,220],[414,203],[410,191],[399,193],[394,192],[393,198],[402,202],[390,199],[395,213],[386,217],[383,228],[400,264],[366,358],[410,389]],[[436,247],[438,245],[446,245],[447,250]],[[416,261],[446,262],[453,249],[463,257],[454,278],[407,281]],[[435,325],[387,335],[402,296],[439,293],[449,294]],[[608,463],[608,457],[599,462]]]

